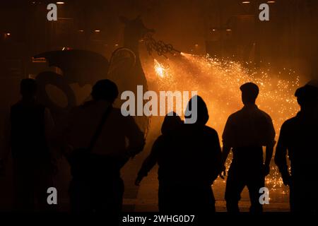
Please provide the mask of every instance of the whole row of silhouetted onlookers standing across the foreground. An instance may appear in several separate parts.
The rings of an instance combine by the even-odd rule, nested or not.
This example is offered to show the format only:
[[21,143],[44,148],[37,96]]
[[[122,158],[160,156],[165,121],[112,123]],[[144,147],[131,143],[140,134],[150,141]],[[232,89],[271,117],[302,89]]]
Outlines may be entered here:
[[[215,212],[212,184],[226,174],[228,212],[240,211],[238,203],[245,186],[249,190],[250,212],[262,212],[259,191],[270,172],[276,134],[269,114],[255,104],[258,86],[245,83],[240,90],[244,107],[228,117],[222,150],[218,133],[206,126],[208,108],[201,97],[192,97],[196,98],[197,107],[194,124],[187,124],[193,113],[192,100],[184,121],[175,112],[165,117],[161,135],[135,181],[138,186],[158,164],[160,212]],[[21,100],[11,107],[0,156],[3,172],[11,151],[16,209],[33,210],[35,198],[41,210],[52,208],[47,203],[47,188],[52,186],[57,171],[54,147],[61,150],[71,166],[71,210],[120,213],[124,194],[120,169],[143,150],[145,139],[134,118],[124,117],[121,109],[113,107],[119,95],[117,85],[107,79],[95,83],[92,100],[74,107],[59,130],[55,129],[58,126],[54,126],[49,109],[37,102],[35,80],[23,79],[20,94]],[[317,83],[298,88],[295,97],[300,112],[281,126],[274,160],[283,183],[290,188],[290,210],[317,213]],[[225,162],[231,150],[233,157],[227,173]]]

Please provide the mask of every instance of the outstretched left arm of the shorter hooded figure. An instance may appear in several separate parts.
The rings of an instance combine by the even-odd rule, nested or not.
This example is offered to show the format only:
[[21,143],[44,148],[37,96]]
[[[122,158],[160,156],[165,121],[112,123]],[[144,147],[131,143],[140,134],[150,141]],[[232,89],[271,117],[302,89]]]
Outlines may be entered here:
[[162,138],[158,138],[155,141],[155,143],[153,143],[153,148],[151,148],[151,153],[143,161],[143,165],[141,166],[141,169],[139,170],[136,181],[135,181],[136,186],[139,186],[143,177],[147,177],[148,172],[151,171],[151,169],[155,166],[155,163],[157,163],[158,151],[160,150],[160,142],[162,142],[161,140]]

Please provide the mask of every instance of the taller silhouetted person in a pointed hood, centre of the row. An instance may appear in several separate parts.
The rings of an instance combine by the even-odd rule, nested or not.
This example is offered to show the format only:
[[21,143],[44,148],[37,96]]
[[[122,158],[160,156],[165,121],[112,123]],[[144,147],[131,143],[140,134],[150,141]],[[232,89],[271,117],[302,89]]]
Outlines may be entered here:
[[[212,213],[215,199],[211,185],[220,172],[218,133],[205,125],[208,109],[201,97],[192,97],[185,113],[185,124],[165,135],[167,145],[158,151],[160,211]],[[192,114],[196,121],[189,124]]]

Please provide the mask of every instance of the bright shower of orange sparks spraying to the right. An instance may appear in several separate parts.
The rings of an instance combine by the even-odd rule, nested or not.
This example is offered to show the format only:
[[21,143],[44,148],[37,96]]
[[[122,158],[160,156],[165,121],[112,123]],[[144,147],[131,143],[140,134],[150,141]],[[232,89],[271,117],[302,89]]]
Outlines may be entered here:
[[[283,69],[278,75],[266,69],[245,69],[242,64],[226,59],[213,59],[209,56],[180,53],[182,59],[154,60],[154,72],[158,76],[158,90],[197,90],[204,97],[210,114],[208,125],[223,133],[223,127],[230,114],[242,107],[240,85],[252,81],[260,88],[257,105],[268,112],[276,129],[276,138],[281,124],[293,117],[299,107],[294,97],[299,87],[299,77],[291,69]],[[246,63],[248,64],[248,63]],[[249,64],[250,66],[250,64]],[[149,69],[149,68],[148,68]],[[146,70],[145,70],[146,71]],[[146,71],[151,76],[153,71]],[[280,76],[288,75],[288,81]],[[227,165],[230,164],[230,161]],[[266,184],[276,190],[283,185],[277,167],[271,167]]]

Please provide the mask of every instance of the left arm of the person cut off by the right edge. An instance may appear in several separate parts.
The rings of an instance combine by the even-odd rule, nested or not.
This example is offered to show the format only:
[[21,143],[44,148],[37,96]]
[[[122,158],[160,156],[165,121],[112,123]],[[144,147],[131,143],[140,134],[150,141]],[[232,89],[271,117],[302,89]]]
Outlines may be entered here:
[[277,165],[279,172],[281,172],[281,177],[283,178],[283,183],[285,185],[289,184],[290,174],[288,172],[288,164],[287,164],[287,153],[288,148],[285,142],[285,126],[281,127],[281,133],[278,138],[278,143],[276,147],[276,153],[275,153],[275,164]]

